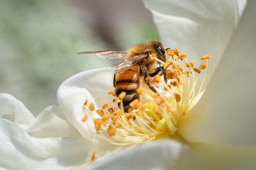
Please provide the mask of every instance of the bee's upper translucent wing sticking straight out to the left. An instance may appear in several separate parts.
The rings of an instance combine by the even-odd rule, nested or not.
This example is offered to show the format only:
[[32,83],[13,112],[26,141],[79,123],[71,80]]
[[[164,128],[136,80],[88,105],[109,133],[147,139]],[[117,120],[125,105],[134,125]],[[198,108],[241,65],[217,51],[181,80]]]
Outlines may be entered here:
[[124,59],[127,56],[127,52],[116,52],[116,51],[79,52],[79,54],[80,53],[95,53],[102,59]]

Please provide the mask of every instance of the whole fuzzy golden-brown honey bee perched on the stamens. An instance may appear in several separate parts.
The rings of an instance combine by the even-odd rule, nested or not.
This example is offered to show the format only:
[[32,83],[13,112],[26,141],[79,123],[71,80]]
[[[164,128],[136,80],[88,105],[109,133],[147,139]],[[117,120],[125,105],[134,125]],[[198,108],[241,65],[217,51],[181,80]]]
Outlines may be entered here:
[[146,84],[153,92],[157,92],[150,83],[150,77],[160,73],[164,75],[164,80],[166,80],[166,71],[161,65],[166,61],[166,50],[158,41],[149,41],[133,46],[127,52],[93,51],[80,53],[95,53],[103,59],[121,59],[112,66],[114,71],[113,85],[116,96],[125,92],[123,99],[125,112],[129,110],[129,104],[134,99],[140,98],[137,90],[141,83]]

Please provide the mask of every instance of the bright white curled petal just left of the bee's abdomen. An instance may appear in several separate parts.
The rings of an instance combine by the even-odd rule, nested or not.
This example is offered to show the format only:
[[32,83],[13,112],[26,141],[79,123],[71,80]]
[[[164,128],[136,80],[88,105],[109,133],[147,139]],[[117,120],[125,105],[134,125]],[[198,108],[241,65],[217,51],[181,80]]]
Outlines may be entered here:
[[[97,110],[107,101],[111,104],[111,97],[108,95],[110,90],[113,90],[113,73],[110,67],[84,71],[68,78],[60,85],[57,99],[61,110],[84,138],[93,138],[93,118],[99,117],[95,111],[83,106],[85,99],[88,99],[88,105],[93,102]],[[85,114],[89,118],[82,122]]]

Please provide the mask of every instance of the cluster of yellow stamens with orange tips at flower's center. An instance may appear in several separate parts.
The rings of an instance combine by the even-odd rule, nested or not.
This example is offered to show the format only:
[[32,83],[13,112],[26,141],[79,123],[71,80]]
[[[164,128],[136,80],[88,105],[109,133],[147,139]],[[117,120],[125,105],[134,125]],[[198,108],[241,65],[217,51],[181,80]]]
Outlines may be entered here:
[[[210,59],[210,56],[201,57],[202,64],[196,68],[194,62],[187,59],[187,54],[180,53],[178,48],[173,51],[166,50],[166,53],[167,61],[163,63],[159,60],[166,70],[164,81],[157,75],[150,82],[156,87],[157,93],[138,89],[137,93],[146,100],[132,101],[128,113],[125,113],[122,101],[125,92],[118,97],[114,92],[109,92],[109,95],[116,97],[114,102],[120,103],[120,108],[108,108],[106,103],[102,110],[96,111],[101,118],[94,120],[95,135],[115,145],[136,145],[144,141],[174,136],[179,129],[180,119],[204,94],[207,59]],[[154,59],[158,60],[155,57]],[[204,76],[200,81],[202,70]],[[87,102],[84,105],[87,106]],[[93,103],[88,107],[94,110]],[[85,122],[86,118],[85,115],[82,121]]]

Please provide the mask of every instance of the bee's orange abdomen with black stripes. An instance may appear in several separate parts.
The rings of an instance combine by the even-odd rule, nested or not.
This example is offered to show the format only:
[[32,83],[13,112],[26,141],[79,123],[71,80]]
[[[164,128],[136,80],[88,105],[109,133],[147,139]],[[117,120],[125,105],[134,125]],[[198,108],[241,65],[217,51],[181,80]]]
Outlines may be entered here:
[[129,103],[138,99],[137,89],[140,87],[140,66],[133,66],[131,69],[115,74],[114,87],[116,96],[121,92],[126,95],[123,99],[124,111],[128,111]]

